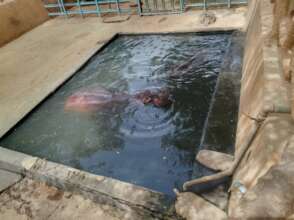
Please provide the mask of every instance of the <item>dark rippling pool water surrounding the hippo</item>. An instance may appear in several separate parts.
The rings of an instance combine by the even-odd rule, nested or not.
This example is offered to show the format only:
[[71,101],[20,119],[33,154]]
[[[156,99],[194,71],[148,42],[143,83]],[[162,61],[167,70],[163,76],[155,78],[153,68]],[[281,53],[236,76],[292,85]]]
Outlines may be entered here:
[[[0,145],[172,194],[191,178],[229,36],[120,36]],[[92,113],[64,110],[71,94],[94,84],[127,94],[168,88],[173,104],[157,108],[125,101]]]

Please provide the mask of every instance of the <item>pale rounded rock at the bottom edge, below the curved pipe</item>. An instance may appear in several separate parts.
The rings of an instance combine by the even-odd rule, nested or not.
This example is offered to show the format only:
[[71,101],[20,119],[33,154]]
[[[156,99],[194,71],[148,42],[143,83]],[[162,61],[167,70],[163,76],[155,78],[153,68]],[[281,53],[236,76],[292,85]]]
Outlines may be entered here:
[[187,220],[227,219],[224,211],[190,192],[178,194],[175,208],[177,214]]

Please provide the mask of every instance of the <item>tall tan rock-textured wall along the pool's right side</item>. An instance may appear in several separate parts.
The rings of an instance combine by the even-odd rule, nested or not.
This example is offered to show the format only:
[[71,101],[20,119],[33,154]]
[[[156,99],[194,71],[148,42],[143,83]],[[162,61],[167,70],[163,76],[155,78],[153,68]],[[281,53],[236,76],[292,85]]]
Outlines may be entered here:
[[249,149],[231,186],[228,212],[234,218],[294,213],[291,83],[283,74],[279,41],[273,38],[273,3],[249,1],[235,156],[246,144]]

